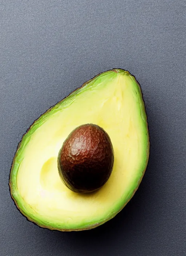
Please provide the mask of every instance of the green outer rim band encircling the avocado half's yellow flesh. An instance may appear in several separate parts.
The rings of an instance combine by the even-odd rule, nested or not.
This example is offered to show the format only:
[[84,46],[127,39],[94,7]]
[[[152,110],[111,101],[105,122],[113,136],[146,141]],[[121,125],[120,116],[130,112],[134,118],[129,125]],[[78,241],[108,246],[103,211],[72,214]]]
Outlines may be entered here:
[[[90,83],[96,81],[96,79],[98,79],[98,77],[103,77],[103,76],[106,77],[107,75],[111,74],[112,72],[115,72],[115,73],[124,73],[125,72],[126,76],[130,75],[130,73],[128,71],[125,71],[123,69],[112,69],[112,70],[106,71],[104,73],[100,73],[97,76],[95,76],[93,79],[86,81],[81,87],[79,87],[76,90],[74,90],[73,92],[71,92],[67,97],[65,97],[64,99],[59,101],[53,107],[49,108],[43,115],[41,115],[37,120],[35,120],[34,123],[31,125],[31,127],[29,127],[27,132],[23,135],[23,137],[17,147],[17,151],[15,153],[15,156],[14,156],[14,159],[12,162],[11,173],[10,173],[10,178],[9,178],[9,187],[10,187],[11,197],[14,200],[17,209],[23,214],[23,216],[25,216],[27,218],[27,220],[32,221],[33,223],[35,223],[36,225],[39,225],[42,228],[48,228],[50,230],[58,230],[58,231],[82,231],[82,230],[89,230],[89,229],[96,228],[96,227],[104,224],[106,221],[109,221],[114,216],[116,216],[117,213],[120,212],[125,207],[125,205],[130,201],[130,199],[133,197],[133,195],[135,194],[135,192],[137,191],[137,189],[141,183],[141,180],[145,173],[148,159],[149,159],[149,149],[150,149],[149,131],[148,131],[145,106],[143,103],[140,84],[137,82],[137,80],[135,79],[134,76],[130,75],[135,79],[136,84],[138,85],[138,90],[141,95],[141,104],[142,104],[141,106],[142,106],[142,110],[143,110],[142,111],[143,119],[146,123],[145,132],[146,132],[146,140],[147,141],[146,141],[145,158],[144,158],[145,164],[143,165],[143,168],[141,171],[142,174],[141,174],[140,179],[138,180],[138,184],[133,189],[132,194],[130,194],[128,196],[128,199],[125,202],[123,202],[123,204],[120,205],[120,207],[118,207],[118,209],[116,211],[112,212],[109,216],[107,216],[106,219],[97,221],[96,223],[88,223],[88,224],[86,223],[83,226],[66,227],[64,225],[59,226],[58,223],[57,224],[51,223],[51,222],[47,222],[43,219],[40,219],[40,216],[37,216],[35,214],[35,212],[33,211],[33,209],[29,205],[27,205],[27,207],[24,206],[24,202],[20,196],[19,190],[17,189],[17,173],[18,173],[19,166],[21,163],[22,153],[23,153],[24,148],[26,147],[31,135],[33,134],[33,132],[35,132],[37,130],[37,128],[39,128],[44,123],[44,120],[47,120],[51,115],[58,112],[59,106],[63,106],[63,107],[68,106],[69,102],[72,101],[72,99],[77,95],[77,93],[81,92],[81,90],[83,90],[86,85],[89,85]],[[43,117],[45,117],[45,118],[43,118]]]

